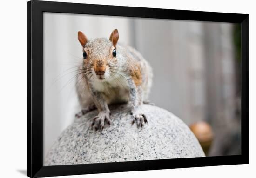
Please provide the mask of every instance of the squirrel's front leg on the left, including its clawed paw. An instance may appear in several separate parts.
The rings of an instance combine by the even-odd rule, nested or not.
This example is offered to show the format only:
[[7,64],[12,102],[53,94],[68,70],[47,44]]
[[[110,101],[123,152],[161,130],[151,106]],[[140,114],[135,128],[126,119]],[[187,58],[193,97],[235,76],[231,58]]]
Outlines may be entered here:
[[94,117],[92,127],[95,130],[103,129],[104,122],[106,121],[110,124],[110,111],[108,109],[108,104],[105,99],[102,97],[101,92],[92,91],[92,96],[94,100],[94,104],[97,107],[99,114]]

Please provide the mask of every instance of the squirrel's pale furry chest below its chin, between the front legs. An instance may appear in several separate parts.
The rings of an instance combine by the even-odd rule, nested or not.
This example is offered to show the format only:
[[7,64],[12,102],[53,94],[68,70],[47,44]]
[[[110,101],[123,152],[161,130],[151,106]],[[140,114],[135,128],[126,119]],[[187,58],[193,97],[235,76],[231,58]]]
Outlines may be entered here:
[[108,104],[128,102],[129,87],[126,79],[115,78],[93,83],[94,90],[102,93]]

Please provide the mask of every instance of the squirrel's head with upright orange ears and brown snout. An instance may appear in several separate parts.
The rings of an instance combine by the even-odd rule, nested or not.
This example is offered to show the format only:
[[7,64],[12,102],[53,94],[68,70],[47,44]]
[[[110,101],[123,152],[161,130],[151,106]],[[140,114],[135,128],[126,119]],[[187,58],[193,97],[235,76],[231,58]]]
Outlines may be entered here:
[[89,79],[103,81],[116,73],[118,69],[118,49],[116,48],[118,38],[117,29],[113,30],[109,40],[105,38],[88,40],[82,32],[78,32],[78,40],[83,47],[83,71]]

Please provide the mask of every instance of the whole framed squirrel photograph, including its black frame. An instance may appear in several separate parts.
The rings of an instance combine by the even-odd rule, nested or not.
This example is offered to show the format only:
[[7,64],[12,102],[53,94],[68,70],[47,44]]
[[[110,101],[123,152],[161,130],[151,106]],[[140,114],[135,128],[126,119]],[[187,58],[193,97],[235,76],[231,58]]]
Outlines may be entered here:
[[27,2],[27,176],[249,163],[249,15]]

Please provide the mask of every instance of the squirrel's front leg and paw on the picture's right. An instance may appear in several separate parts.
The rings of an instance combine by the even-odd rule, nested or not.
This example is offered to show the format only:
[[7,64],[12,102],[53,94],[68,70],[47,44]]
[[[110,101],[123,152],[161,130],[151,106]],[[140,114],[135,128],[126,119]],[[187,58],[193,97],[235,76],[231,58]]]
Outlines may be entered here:
[[133,80],[129,79],[129,86],[130,86],[130,102],[132,105],[132,125],[136,123],[137,127],[143,127],[145,123],[148,123],[148,120],[145,114],[141,111],[142,106],[142,98],[143,93],[141,86],[135,86]]

